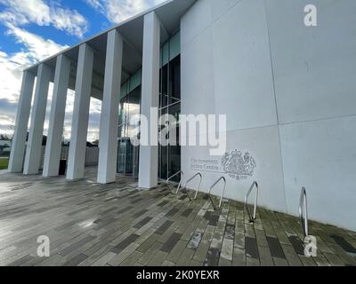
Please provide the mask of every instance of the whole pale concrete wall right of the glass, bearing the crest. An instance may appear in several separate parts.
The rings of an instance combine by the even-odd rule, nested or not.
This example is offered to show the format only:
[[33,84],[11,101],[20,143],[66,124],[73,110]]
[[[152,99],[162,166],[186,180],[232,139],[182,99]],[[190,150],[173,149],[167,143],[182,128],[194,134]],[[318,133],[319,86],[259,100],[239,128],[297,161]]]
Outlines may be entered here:
[[[305,186],[312,219],[355,230],[356,4],[313,3],[318,27],[305,1],[197,1],[182,18],[182,114],[227,114],[228,151],[255,157],[254,177],[227,176],[227,197],[256,180],[262,206],[297,215]],[[208,150],[182,147],[185,176]]]

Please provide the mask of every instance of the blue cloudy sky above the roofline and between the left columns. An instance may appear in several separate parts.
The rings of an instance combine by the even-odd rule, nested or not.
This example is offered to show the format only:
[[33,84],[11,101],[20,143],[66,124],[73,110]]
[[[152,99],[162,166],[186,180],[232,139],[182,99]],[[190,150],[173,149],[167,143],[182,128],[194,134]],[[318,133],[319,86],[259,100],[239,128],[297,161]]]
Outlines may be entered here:
[[[0,134],[12,135],[22,70],[164,0],[0,0]],[[51,84],[44,134],[47,132]],[[70,138],[69,91],[64,136]],[[88,140],[98,138],[101,102],[92,99]]]

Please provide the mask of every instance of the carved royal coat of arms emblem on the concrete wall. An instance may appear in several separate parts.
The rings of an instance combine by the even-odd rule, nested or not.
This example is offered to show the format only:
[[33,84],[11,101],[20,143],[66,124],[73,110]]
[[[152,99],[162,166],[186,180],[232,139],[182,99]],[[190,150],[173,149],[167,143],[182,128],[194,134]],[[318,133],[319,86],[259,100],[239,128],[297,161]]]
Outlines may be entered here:
[[257,164],[254,157],[248,152],[242,154],[241,151],[233,150],[223,155],[222,166],[223,170],[228,173],[230,177],[240,180],[252,177]]

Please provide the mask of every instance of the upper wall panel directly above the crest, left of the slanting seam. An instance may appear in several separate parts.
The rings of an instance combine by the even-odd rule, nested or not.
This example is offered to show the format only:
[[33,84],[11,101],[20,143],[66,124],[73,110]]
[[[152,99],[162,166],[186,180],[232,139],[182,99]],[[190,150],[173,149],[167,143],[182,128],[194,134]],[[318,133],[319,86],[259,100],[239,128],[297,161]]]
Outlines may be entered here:
[[228,115],[228,130],[277,125],[263,1],[226,12],[213,24],[213,40],[215,108]]

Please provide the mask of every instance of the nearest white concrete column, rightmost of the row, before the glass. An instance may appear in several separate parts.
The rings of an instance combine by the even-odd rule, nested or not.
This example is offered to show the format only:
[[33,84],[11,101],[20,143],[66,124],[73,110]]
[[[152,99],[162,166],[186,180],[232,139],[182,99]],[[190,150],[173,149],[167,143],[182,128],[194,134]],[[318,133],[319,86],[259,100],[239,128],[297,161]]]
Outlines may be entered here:
[[[159,97],[160,22],[155,12],[144,17],[142,54],[142,114],[151,123],[150,109],[158,108]],[[154,120],[153,124],[158,122]],[[150,140],[152,140],[150,138]],[[157,138],[153,138],[157,140]],[[158,146],[140,147],[139,187],[150,189],[158,185]]]

